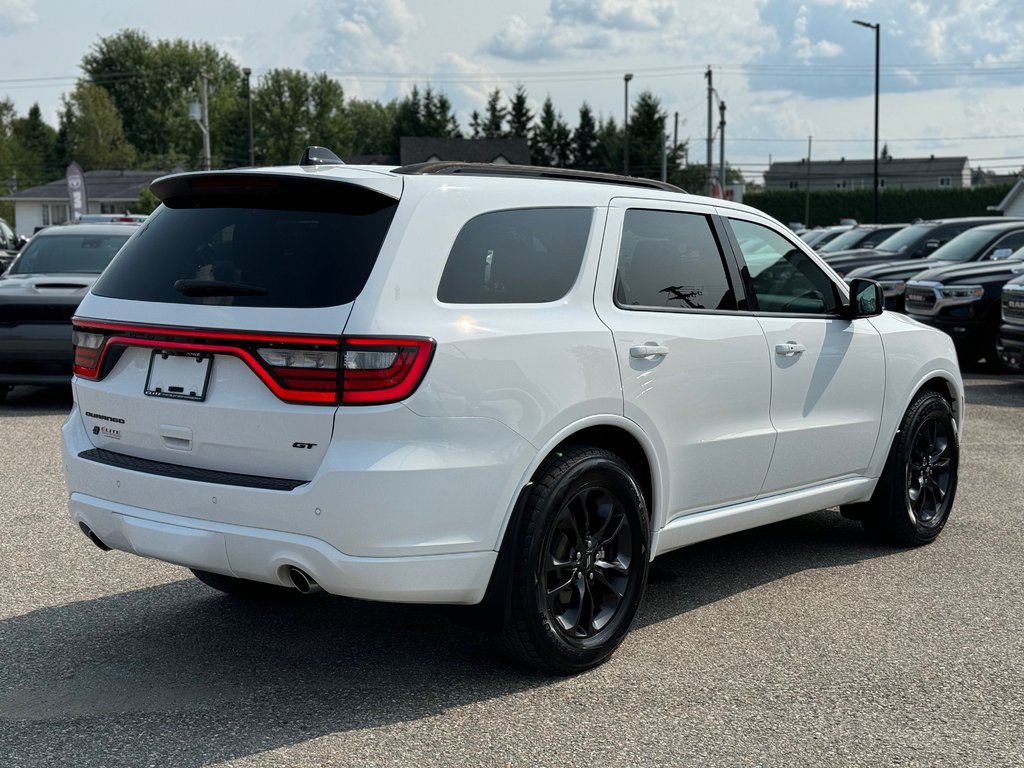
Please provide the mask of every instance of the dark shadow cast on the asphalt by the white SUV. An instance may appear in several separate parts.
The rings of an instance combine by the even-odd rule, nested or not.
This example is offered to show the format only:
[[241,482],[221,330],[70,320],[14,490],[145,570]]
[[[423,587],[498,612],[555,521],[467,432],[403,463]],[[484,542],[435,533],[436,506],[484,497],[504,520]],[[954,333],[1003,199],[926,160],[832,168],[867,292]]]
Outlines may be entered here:
[[[892,553],[834,512],[698,544],[655,561],[637,625]],[[444,606],[245,602],[194,580],[0,622],[0,649],[14,764],[203,766],[557,683]]]

